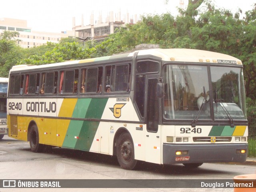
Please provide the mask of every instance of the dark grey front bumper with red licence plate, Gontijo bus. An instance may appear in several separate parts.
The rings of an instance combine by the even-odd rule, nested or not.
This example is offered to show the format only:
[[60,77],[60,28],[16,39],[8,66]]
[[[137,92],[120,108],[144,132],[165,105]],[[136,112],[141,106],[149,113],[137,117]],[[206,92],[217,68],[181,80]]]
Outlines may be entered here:
[[[246,153],[236,153],[237,150]],[[186,155],[176,155],[176,151],[187,151]],[[245,162],[248,144],[163,144],[163,164],[203,163],[203,162]],[[189,158],[176,158],[176,157]],[[185,160],[180,160],[185,159]]]

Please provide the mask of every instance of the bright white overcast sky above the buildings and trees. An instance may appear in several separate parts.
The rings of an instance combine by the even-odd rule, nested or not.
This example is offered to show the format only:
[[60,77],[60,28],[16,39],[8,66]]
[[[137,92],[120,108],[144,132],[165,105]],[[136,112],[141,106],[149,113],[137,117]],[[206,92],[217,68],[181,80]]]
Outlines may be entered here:
[[[27,27],[32,31],[56,32],[72,30],[72,18],[75,25],[81,25],[82,15],[84,26],[90,24],[90,15],[94,14],[94,20],[102,14],[102,20],[109,15],[110,11],[118,14],[124,20],[124,15],[129,13],[132,17],[146,14],[163,14],[170,12],[173,16],[178,15],[177,8],[180,0],[1,0],[0,18],[13,18],[27,20]],[[240,8],[243,12],[252,10],[255,0],[212,0],[215,7],[225,8],[236,12]],[[184,0],[184,8],[188,0]],[[201,6],[203,7],[203,5]],[[200,8],[201,8],[200,7]]]

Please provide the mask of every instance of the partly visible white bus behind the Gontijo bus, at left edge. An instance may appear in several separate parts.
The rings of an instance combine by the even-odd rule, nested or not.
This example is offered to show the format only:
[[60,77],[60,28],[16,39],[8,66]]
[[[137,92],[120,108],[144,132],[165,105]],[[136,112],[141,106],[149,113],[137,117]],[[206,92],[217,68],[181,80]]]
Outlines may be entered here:
[[6,101],[7,101],[8,78],[0,77],[0,139],[7,135]]

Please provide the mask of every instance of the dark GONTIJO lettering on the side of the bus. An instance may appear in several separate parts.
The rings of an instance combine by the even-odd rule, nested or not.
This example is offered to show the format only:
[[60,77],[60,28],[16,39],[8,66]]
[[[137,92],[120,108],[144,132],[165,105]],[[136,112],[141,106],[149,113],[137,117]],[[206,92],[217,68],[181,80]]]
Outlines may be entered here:
[[56,103],[55,102],[27,102],[26,110],[32,112],[46,112],[46,113],[55,113],[56,112]]

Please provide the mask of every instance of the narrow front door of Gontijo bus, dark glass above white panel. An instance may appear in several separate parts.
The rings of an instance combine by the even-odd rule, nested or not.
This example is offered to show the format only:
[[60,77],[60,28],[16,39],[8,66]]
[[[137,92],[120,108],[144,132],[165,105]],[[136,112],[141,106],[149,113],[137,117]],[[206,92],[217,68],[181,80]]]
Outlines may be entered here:
[[156,96],[158,78],[147,78],[146,89],[146,157],[147,162],[161,164],[161,134],[159,124],[159,99]]

